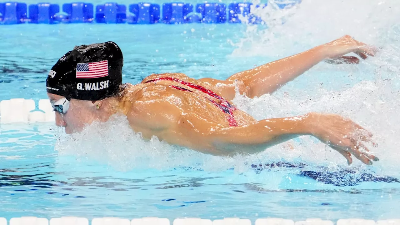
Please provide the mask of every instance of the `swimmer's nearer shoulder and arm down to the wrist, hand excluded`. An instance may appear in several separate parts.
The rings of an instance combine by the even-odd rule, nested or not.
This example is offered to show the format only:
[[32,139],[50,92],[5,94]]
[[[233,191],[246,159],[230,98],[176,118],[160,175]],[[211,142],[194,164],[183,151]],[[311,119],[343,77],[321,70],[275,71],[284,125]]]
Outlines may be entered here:
[[[127,117],[143,136],[157,136],[172,145],[212,155],[230,155],[244,149],[265,150],[300,135],[310,135],[308,116],[276,118],[240,127],[224,127],[204,115],[182,110],[173,100],[136,98]],[[148,135],[146,135],[148,134]],[[254,153],[254,152],[253,152]]]

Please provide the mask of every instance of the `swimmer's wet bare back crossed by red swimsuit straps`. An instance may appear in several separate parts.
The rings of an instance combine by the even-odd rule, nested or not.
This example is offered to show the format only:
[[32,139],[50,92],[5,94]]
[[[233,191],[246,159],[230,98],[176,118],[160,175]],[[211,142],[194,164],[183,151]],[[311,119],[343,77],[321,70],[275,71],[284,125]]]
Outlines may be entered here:
[[[196,90],[196,88],[170,80],[153,82],[153,80],[166,75],[169,74],[152,75],[145,78],[140,84],[128,84],[126,86],[126,94],[124,94],[126,101],[129,102],[130,99],[134,99],[134,102],[126,104],[126,106],[129,106],[129,109],[126,110],[128,120],[132,128],[136,132],[141,132],[146,139],[150,139],[154,133],[157,133],[156,136],[162,139],[164,135],[170,133],[162,124],[167,122],[173,126],[183,125],[180,117],[188,113],[216,123],[221,127],[232,126],[229,116],[233,116],[238,126],[255,122],[246,112],[236,108],[232,115],[228,115],[216,104],[217,101],[226,100],[214,98],[207,93]],[[176,75],[174,78],[182,78],[186,82],[196,82],[196,80],[187,78],[182,74],[174,75]],[[179,88],[176,88],[176,86],[179,86]],[[193,129],[193,127],[188,127],[188,129]]]

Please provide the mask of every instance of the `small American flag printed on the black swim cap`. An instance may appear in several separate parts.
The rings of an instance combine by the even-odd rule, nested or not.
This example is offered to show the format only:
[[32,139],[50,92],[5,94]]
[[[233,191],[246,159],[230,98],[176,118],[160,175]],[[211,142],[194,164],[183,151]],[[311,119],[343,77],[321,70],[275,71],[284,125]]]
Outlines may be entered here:
[[76,78],[98,78],[108,76],[108,61],[78,63]]

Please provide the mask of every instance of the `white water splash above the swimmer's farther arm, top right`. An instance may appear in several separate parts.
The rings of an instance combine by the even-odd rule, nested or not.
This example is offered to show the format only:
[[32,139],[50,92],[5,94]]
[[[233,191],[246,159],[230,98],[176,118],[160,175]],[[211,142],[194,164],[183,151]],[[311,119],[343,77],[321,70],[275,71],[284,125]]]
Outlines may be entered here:
[[[260,4],[258,0],[252,2]],[[268,29],[248,24],[246,36],[234,44],[238,48],[233,55],[282,58],[345,34],[398,50],[395,41],[398,41],[399,10],[396,0],[303,0],[283,10],[268,4],[251,11],[262,18]]]

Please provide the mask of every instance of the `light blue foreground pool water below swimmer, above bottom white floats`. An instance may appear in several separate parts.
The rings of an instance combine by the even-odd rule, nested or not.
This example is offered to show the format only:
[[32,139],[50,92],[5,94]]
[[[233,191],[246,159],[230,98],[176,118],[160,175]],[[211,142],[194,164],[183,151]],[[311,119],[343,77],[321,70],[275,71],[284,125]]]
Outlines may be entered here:
[[[266,167],[260,171],[251,169],[251,162],[257,161],[252,157],[218,159],[189,150],[163,149],[156,142],[145,147],[138,139],[132,151],[123,149],[118,140],[109,143],[118,147],[117,151],[111,147],[108,151],[97,149],[94,144],[91,149],[88,145],[76,147],[82,152],[72,156],[65,149],[59,155],[54,150],[56,137],[48,130],[50,126],[2,125],[2,216],[157,216],[171,220],[238,216],[253,221],[259,217],[335,220],[393,218],[399,209],[396,179],[392,183],[359,183],[357,179],[362,176],[349,176],[341,171],[344,167],[322,169],[314,165],[302,169]],[[86,138],[94,141],[94,136]],[[104,143],[100,141],[97,145]],[[106,156],[95,157],[90,153],[99,154],[99,149]],[[127,155],[139,150],[148,152]],[[215,163],[226,165],[213,168]],[[203,165],[206,169],[202,169]],[[365,168],[352,170],[374,174]],[[329,181],[325,184],[301,176],[300,171],[319,171],[320,178],[336,173],[342,181],[333,179],[334,185]]]

